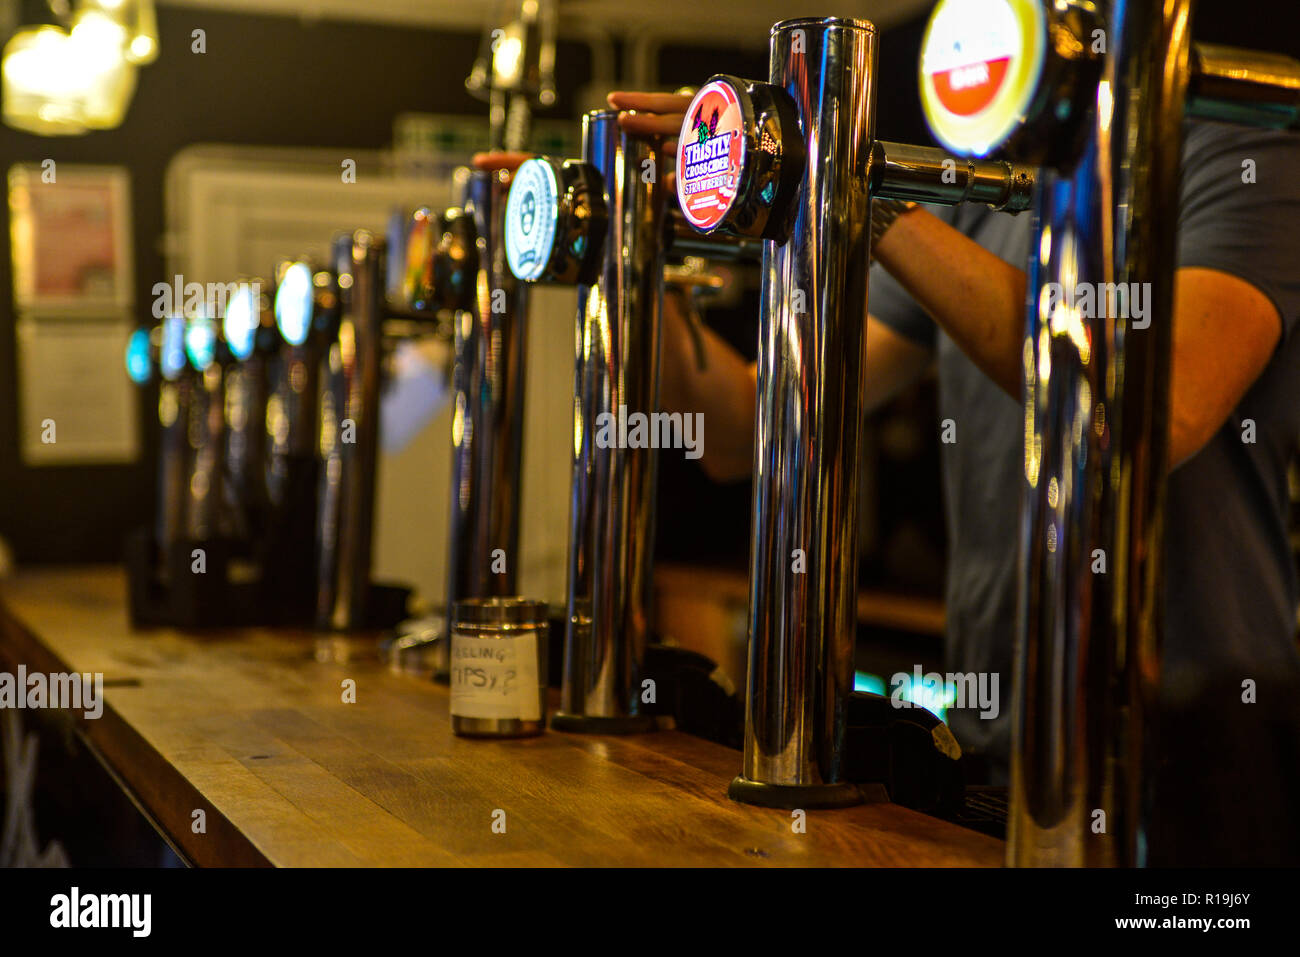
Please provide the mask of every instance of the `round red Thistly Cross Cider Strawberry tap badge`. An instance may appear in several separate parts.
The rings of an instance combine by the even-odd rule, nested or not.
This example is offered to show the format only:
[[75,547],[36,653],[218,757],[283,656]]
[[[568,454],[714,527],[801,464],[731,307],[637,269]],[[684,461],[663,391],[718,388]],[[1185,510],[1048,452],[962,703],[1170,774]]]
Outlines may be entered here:
[[745,116],[731,83],[712,79],[690,101],[677,138],[677,203],[692,226],[716,229],[736,202],[745,163]]

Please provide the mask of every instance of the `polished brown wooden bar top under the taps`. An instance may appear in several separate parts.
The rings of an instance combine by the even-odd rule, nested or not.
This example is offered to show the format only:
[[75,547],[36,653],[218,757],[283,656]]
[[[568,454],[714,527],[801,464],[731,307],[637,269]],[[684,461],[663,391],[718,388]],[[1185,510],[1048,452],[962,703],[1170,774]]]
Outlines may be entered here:
[[[341,648],[361,651],[347,661]],[[273,629],[134,631],[120,570],[0,583],[0,670],[103,672],[103,716],[69,716],[195,865],[1002,861],[1000,841],[888,802],[809,811],[796,832],[789,811],[727,798],[737,752],[676,731],[456,737],[447,689],[389,670],[373,648]]]

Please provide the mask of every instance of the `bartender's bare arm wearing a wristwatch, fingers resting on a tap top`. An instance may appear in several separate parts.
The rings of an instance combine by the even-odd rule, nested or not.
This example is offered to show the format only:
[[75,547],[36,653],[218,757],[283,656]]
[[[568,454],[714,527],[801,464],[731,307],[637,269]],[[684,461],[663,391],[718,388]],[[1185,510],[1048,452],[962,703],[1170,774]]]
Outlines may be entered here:
[[[625,129],[664,135],[680,130],[688,104],[685,96],[610,95],[610,105],[616,109],[650,113],[625,114],[621,118]],[[1023,398],[1023,270],[919,208],[894,221],[878,243],[875,256],[971,361],[1014,399]],[[881,363],[893,361],[894,343],[885,330],[883,324],[868,320],[868,381],[888,376]],[[1252,283],[1217,269],[1176,270],[1171,467],[1200,451],[1223,425],[1280,338],[1282,317],[1277,307]],[[906,339],[902,347],[920,350]],[[898,378],[907,381],[906,376]],[[725,462],[719,468],[733,464],[737,463]]]

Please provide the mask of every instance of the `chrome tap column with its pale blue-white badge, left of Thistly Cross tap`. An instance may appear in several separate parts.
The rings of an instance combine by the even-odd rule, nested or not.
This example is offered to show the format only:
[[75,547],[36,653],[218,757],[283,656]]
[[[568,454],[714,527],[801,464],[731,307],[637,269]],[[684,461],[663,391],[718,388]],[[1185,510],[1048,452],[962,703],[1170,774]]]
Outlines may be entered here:
[[650,631],[655,450],[614,437],[659,400],[667,191],[659,140],[582,120],[582,163],[533,160],[511,190],[511,268],[578,285],[564,680],[552,726],[630,733]]

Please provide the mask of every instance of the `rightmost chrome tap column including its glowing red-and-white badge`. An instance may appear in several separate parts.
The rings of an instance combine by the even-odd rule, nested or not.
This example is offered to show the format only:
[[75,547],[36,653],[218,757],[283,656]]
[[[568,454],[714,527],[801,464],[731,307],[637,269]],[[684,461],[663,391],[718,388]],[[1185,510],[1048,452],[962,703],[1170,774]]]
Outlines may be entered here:
[[[1190,0],[1008,0],[992,26],[974,7],[941,3],[931,17],[920,68],[931,129],[954,151],[1001,146],[1045,168],[1023,352],[1008,861],[1143,865],[1183,117],[1294,126],[1300,64],[1193,49]],[[988,69],[994,57],[1005,73]],[[1074,304],[1086,287],[1100,308]]]

